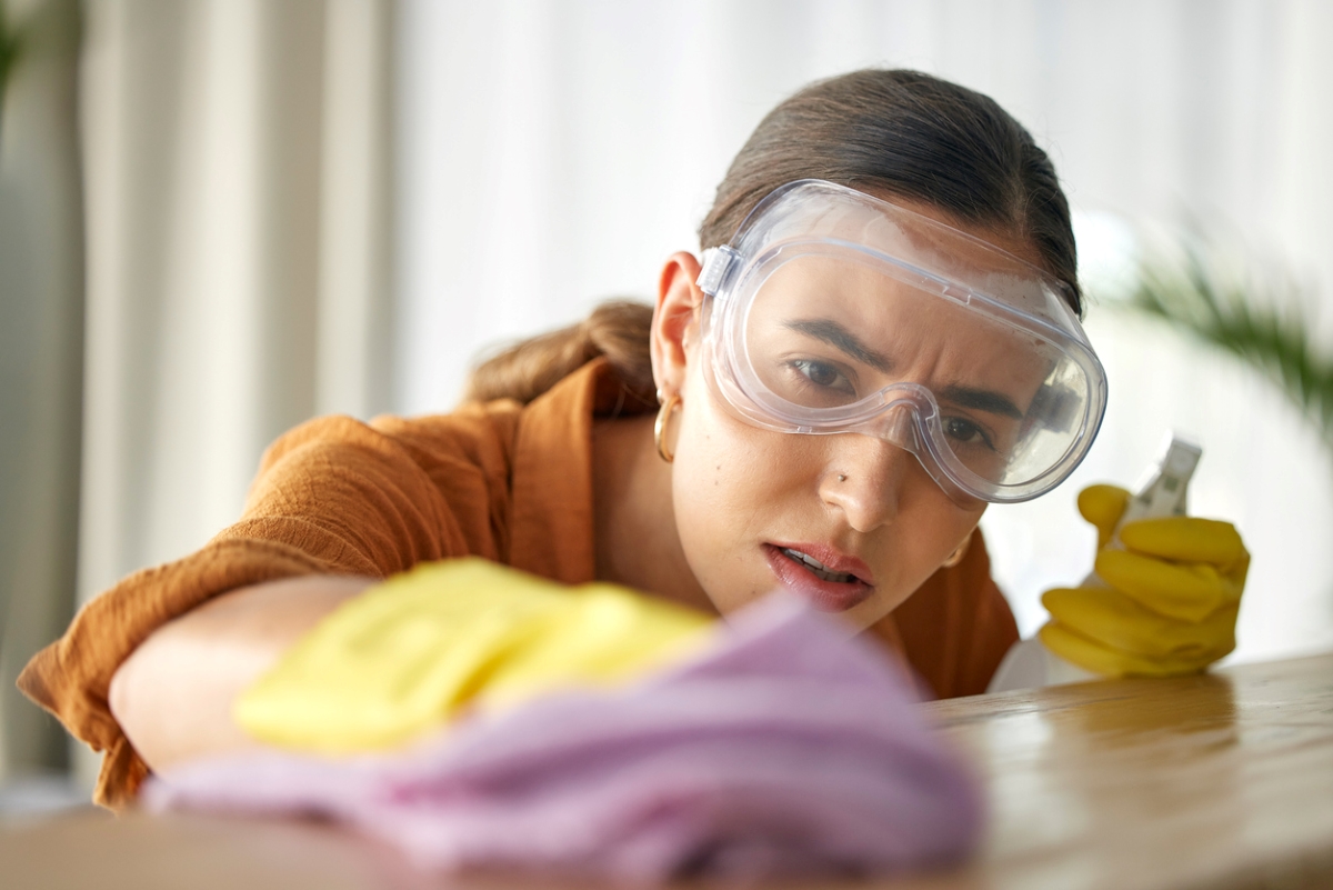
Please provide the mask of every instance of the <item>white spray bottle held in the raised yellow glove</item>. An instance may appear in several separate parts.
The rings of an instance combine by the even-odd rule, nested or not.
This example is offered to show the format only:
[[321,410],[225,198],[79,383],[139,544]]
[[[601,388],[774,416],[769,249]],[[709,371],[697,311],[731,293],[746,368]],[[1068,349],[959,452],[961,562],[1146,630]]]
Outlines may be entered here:
[[[1124,516],[1116,524],[1116,530],[1106,546],[1124,546],[1120,544],[1120,529],[1126,522],[1162,516],[1184,516],[1185,490],[1189,488],[1189,478],[1194,474],[1201,454],[1202,449],[1189,440],[1176,434],[1168,436],[1161,460],[1148,468],[1140,481],[1138,493],[1130,498],[1129,506],[1125,508]],[[1084,580],[1082,586],[1105,588],[1106,582],[1093,572]],[[1009,649],[986,691],[1002,693],[1010,689],[1057,686],[1100,678],[1100,674],[1084,670],[1053,654],[1041,645],[1040,638],[1033,637],[1020,640]]]

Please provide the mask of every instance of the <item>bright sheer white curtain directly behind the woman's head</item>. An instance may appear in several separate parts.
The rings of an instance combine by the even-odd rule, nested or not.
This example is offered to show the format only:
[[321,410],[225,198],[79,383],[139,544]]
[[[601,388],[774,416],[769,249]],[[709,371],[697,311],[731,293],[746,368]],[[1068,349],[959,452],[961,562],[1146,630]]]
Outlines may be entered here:
[[[938,73],[1024,121],[1078,211],[1090,274],[1108,212],[1190,213],[1284,262],[1322,308],[1330,40],[1321,0],[404,0],[397,408],[448,408],[497,341],[652,296],[760,116],[865,65]],[[1317,438],[1225,358],[1106,308],[1089,332],[1110,374],[1100,442],[1065,488],[984,522],[1024,630],[1042,589],[1088,570],[1078,488],[1133,484],[1180,428],[1205,448],[1194,510],[1236,521],[1254,552],[1237,657],[1333,645],[1333,460]]]

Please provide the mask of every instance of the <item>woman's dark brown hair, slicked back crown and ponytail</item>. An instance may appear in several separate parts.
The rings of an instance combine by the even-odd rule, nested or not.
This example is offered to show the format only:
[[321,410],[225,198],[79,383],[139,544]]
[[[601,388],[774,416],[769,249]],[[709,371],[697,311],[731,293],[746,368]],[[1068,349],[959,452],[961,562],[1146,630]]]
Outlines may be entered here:
[[[700,245],[726,244],[765,195],[801,179],[922,201],[964,225],[1026,240],[1082,313],[1069,203],[1054,167],[988,96],[916,71],[856,71],[810,84],[769,112],[732,161]],[[528,402],[605,356],[629,393],[656,404],[651,324],[652,306],[604,304],[481,364],[467,398]]]

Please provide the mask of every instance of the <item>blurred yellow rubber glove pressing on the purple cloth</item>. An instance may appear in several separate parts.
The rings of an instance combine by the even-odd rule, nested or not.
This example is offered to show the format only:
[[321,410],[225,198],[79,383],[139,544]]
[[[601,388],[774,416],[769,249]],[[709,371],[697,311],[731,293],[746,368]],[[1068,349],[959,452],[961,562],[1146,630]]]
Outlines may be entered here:
[[485,560],[389,578],[303,637],[233,707],[260,741],[344,754],[576,685],[623,683],[702,646],[713,621],[609,584]]

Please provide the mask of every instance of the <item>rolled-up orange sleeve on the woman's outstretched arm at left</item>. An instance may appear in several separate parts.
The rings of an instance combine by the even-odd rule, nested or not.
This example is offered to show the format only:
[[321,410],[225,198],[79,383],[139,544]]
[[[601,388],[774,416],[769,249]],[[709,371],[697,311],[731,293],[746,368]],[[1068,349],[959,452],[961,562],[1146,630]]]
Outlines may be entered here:
[[93,799],[123,806],[148,773],[107,697],[116,669],[165,622],[220,593],[292,576],[385,577],[423,560],[493,557],[492,530],[504,517],[495,516],[491,482],[504,480],[507,456],[497,432],[513,413],[304,424],[268,449],[236,525],[89,601],[19,687],[105,751]]

